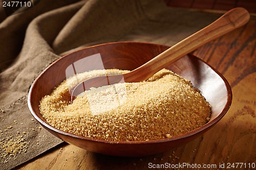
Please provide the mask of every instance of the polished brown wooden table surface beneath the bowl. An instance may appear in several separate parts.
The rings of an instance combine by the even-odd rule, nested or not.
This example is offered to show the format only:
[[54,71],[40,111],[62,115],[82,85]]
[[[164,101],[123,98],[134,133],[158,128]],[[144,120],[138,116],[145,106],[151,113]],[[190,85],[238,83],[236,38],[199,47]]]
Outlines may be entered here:
[[179,163],[201,166],[198,169],[204,169],[203,164],[213,167],[211,169],[224,169],[220,165],[225,168],[229,165],[230,169],[253,169],[252,166],[256,166],[255,47],[254,15],[246,26],[194,52],[224,75],[233,93],[227,114],[200,138],[175,150],[135,158],[100,155],[64,143],[17,169],[148,169],[157,164],[176,165],[174,169],[178,169]]

